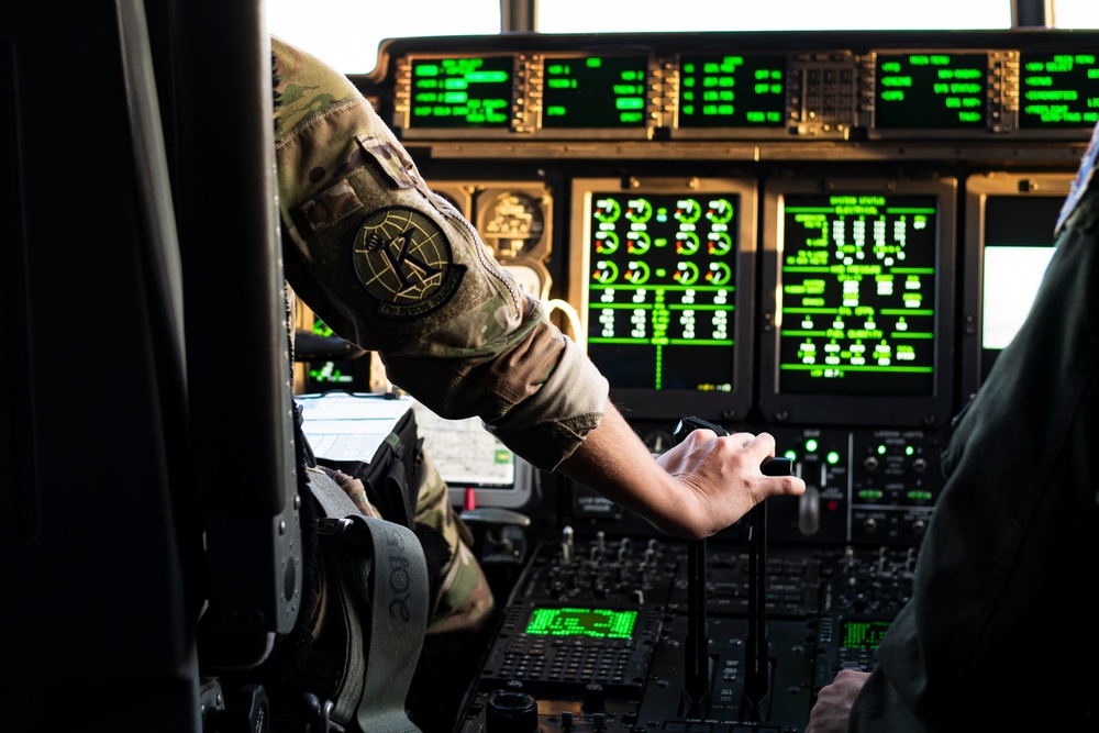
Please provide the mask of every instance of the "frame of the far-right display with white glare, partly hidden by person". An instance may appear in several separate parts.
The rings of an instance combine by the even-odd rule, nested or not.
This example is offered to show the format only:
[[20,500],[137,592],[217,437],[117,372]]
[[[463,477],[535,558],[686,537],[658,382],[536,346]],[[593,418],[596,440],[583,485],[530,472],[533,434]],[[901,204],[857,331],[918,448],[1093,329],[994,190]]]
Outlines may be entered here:
[[[1043,197],[1064,200],[1072,189],[1070,173],[1008,173],[974,174],[965,181],[965,282],[963,292],[964,318],[967,324],[962,341],[959,388],[964,400],[977,392],[985,375],[1001,349],[986,349],[984,341],[985,244],[987,243],[986,212],[990,197]],[[1053,246],[1053,226],[1050,224],[1050,246]]]

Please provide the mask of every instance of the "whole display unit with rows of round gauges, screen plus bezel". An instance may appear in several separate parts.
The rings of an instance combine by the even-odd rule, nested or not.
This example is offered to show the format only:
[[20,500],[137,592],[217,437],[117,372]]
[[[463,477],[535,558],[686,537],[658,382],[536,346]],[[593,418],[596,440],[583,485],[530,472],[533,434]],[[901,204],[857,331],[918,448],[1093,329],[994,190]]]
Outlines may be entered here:
[[714,417],[743,410],[755,182],[635,184],[574,181],[582,252],[570,300],[580,306],[588,356],[612,393],[644,396],[634,415],[681,417],[684,400]]

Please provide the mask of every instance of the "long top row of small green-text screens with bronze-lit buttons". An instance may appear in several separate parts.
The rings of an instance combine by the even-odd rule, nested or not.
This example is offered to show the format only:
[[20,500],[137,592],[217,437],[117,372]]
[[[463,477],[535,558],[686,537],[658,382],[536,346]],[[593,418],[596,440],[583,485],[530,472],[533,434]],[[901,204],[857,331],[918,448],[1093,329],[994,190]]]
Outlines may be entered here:
[[599,51],[486,37],[485,53],[399,54],[391,124],[408,140],[1086,140],[1099,119],[1099,62],[1083,36],[975,32],[957,47],[888,36],[788,51],[766,34]]

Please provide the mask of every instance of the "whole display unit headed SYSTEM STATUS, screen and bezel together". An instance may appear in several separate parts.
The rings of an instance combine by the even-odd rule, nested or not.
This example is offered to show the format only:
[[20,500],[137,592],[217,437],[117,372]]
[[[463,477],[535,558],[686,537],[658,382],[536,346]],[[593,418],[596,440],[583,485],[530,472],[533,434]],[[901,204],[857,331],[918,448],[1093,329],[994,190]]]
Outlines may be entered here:
[[953,400],[953,178],[768,185],[768,419],[942,426]]

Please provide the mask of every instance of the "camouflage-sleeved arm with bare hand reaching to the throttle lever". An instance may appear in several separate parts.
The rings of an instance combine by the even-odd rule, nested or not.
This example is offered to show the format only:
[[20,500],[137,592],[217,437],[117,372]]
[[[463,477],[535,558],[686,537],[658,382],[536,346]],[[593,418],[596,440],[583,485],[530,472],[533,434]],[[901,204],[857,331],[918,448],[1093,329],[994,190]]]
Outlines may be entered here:
[[657,462],[607,380],[420,176],[355,86],[273,40],[287,277],[341,337],[443,418],[477,415],[509,448],[667,532],[713,534],[767,496],[769,435],[695,431]]

